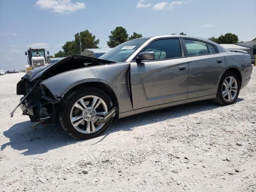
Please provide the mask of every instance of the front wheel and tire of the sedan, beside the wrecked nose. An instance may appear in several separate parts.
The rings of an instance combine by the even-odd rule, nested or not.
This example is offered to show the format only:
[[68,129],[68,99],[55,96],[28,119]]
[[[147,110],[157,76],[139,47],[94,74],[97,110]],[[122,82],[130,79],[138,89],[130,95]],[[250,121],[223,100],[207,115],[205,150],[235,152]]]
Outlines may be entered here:
[[111,125],[113,118],[97,125],[111,109],[110,97],[100,89],[83,87],[68,93],[60,104],[59,120],[72,137],[85,140],[100,136]]

